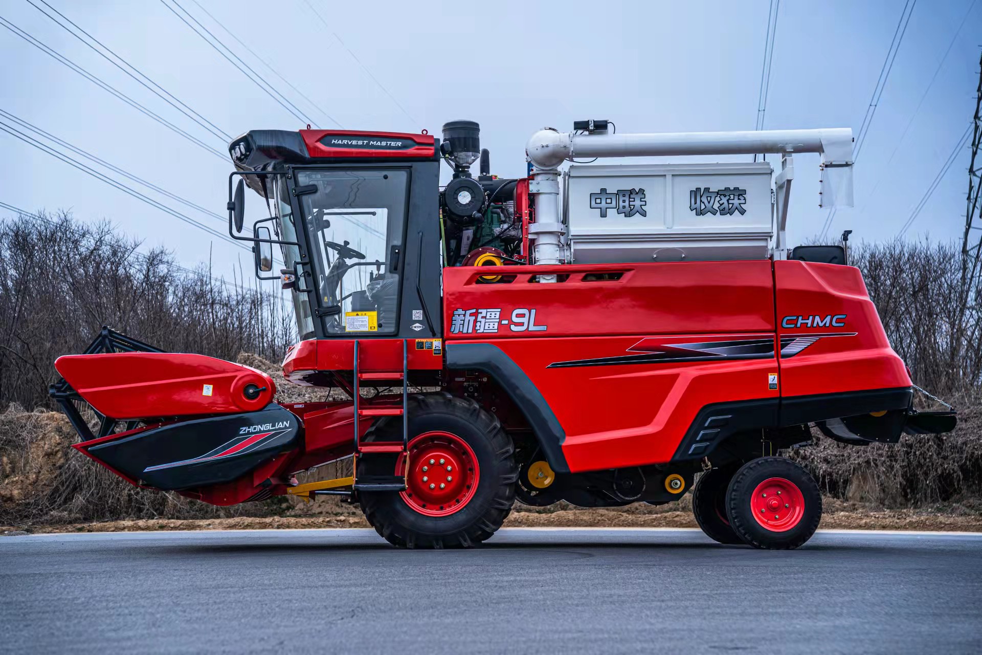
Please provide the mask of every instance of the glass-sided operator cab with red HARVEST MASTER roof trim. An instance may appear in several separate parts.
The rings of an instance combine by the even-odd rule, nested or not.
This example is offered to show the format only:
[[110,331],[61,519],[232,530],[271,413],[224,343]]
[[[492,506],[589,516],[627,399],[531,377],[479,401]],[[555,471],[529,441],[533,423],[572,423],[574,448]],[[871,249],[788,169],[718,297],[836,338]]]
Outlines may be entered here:
[[[426,134],[330,130],[232,142],[230,191],[239,177],[270,211],[251,239],[232,236],[280,246],[281,275],[260,279],[292,290],[301,340],[439,334],[439,234],[427,224],[439,212],[437,147]],[[267,222],[274,238],[262,240]]]

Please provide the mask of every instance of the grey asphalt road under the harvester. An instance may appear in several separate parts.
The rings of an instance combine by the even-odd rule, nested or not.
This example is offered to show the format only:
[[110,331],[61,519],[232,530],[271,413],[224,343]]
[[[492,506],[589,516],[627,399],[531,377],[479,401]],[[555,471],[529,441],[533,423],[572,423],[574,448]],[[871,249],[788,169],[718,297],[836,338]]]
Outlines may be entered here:
[[401,551],[369,530],[0,537],[0,651],[979,652],[982,534],[501,530]]

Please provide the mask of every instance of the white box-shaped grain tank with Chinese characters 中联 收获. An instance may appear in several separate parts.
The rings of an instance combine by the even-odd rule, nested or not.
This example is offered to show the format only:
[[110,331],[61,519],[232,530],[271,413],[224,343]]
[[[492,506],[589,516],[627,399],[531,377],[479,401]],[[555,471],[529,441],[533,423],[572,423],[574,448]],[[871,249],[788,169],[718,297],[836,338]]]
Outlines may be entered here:
[[571,166],[567,261],[764,259],[771,173],[767,162]]

